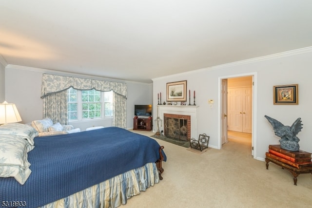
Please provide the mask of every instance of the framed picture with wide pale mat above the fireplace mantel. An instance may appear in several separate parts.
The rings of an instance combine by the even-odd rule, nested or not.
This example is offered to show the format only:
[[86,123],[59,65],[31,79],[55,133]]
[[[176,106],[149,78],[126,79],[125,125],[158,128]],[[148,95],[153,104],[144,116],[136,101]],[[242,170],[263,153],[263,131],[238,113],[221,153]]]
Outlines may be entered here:
[[186,101],[187,81],[167,83],[167,101]]

